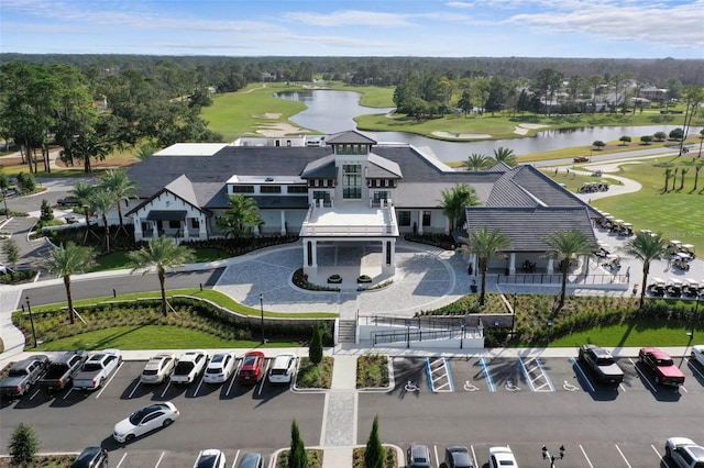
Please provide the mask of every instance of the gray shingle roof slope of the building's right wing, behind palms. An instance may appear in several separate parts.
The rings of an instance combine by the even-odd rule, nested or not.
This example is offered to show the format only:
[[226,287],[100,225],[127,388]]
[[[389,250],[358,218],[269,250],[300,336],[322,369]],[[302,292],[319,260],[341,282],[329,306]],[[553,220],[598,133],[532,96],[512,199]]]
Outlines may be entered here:
[[547,252],[546,237],[558,231],[581,231],[596,244],[587,207],[468,207],[465,214],[470,230],[498,229],[510,237],[507,252]]

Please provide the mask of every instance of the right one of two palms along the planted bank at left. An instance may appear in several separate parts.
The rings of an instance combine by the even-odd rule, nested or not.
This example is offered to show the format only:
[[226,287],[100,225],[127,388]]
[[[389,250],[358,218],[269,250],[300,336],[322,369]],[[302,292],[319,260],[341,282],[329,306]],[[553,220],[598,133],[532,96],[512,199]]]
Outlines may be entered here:
[[180,266],[194,260],[190,248],[176,244],[172,237],[152,237],[148,244],[139,250],[130,252],[132,271],[156,268],[160,287],[162,288],[162,313],[166,315],[166,268]]

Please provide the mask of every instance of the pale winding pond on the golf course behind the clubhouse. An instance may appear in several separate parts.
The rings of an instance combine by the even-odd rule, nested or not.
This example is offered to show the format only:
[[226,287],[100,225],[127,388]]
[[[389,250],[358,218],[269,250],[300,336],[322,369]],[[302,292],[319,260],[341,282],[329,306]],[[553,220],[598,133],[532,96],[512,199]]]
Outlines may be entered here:
[[[354,118],[371,113],[387,113],[388,109],[365,108],[360,105],[361,94],[352,91],[301,90],[279,92],[278,98],[302,102],[308,107],[290,118],[292,122],[322,133],[337,133],[356,129]],[[493,155],[494,149],[504,146],[516,155],[541,153],[573,146],[591,146],[596,140],[604,142],[631,135],[652,135],[656,132],[670,133],[682,125],[647,125],[647,126],[598,126],[568,130],[549,130],[535,137],[494,140],[482,142],[444,142],[406,132],[367,132],[365,135],[377,142],[409,143],[418,148],[428,147],[442,161],[465,160],[472,153]],[[701,127],[693,127],[690,134],[697,133]],[[636,136],[638,135],[638,136]]]

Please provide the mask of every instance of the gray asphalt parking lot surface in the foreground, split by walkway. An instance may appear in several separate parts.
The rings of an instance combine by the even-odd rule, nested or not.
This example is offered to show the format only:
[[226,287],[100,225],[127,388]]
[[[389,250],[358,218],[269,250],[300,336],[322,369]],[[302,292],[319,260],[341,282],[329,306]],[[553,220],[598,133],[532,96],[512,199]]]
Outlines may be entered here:
[[[564,445],[559,467],[668,467],[661,458],[668,437],[701,441],[704,435],[704,368],[685,358],[675,361],[688,379],[681,389],[656,386],[648,371],[628,358],[618,359],[626,374],[618,388],[595,383],[568,357],[438,358],[431,375],[424,358],[395,358],[391,391],[359,393],[356,442],[366,442],[378,415],[384,443],[404,449],[411,443],[428,445],[436,467],[450,444],[470,447],[480,467],[486,466],[494,445],[509,445],[524,468],[543,467],[543,444],[553,453]],[[268,458],[288,447],[294,419],[307,446],[323,438],[323,393],[295,392],[267,381],[254,387],[232,380],[148,387],[138,383],[143,365],[123,363],[96,392],[51,395],[36,390],[20,401],[2,402],[0,444],[7,446],[10,428],[25,422],[36,430],[44,452],[79,452],[98,444],[110,450],[111,467],[186,468],[209,447],[223,449],[228,465],[246,452]],[[405,390],[408,380],[418,385],[418,392]],[[112,441],[114,423],[164,400],[180,410],[175,424],[131,444]]]

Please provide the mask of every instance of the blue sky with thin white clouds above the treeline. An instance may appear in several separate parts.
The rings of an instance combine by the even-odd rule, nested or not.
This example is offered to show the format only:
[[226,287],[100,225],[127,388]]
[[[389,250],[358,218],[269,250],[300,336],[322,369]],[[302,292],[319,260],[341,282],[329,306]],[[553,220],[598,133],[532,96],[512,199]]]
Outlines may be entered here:
[[704,58],[704,0],[2,0],[26,54]]

